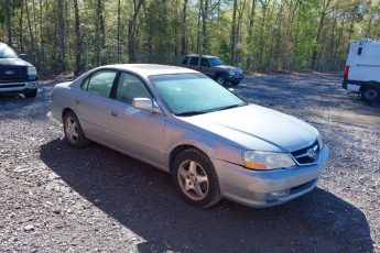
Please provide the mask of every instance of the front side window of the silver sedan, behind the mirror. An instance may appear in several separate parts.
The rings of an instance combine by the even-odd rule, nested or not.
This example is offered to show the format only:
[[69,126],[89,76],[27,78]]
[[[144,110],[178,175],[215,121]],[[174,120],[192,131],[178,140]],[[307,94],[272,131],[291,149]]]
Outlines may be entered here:
[[138,77],[128,73],[121,73],[116,100],[132,105],[133,98],[152,99],[152,96]]

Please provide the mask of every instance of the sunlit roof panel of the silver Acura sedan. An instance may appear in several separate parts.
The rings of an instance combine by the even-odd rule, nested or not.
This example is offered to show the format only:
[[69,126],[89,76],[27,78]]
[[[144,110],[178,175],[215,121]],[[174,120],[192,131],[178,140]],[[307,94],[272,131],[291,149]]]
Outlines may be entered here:
[[197,73],[189,68],[159,64],[113,64],[102,66],[101,68],[117,68],[120,70],[133,72],[143,77],[164,74]]

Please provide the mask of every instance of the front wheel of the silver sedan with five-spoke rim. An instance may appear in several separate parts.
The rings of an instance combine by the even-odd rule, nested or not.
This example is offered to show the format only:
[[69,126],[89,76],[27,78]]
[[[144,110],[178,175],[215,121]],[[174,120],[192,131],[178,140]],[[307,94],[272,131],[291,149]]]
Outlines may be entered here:
[[215,168],[197,150],[185,150],[174,158],[172,179],[176,191],[192,206],[207,208],[221,199]]

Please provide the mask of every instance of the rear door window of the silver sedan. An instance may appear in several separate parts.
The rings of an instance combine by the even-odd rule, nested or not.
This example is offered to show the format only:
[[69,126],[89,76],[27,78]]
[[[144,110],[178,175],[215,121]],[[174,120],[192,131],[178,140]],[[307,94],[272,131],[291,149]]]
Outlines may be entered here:
[[115,80],[116,70],[100,70],[90,76],[87,91],[104,97],[109,97]]

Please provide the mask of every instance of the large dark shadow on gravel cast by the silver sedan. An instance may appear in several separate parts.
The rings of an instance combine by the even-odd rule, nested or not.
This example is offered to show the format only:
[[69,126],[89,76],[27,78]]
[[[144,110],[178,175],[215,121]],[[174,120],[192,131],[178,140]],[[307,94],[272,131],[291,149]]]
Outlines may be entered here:
[[373,250],[366,216],[322,188],[268,209],[229,200],[198,209],[177,197],[166,173],[98,144],[73,148],[56,139],[41,146],[40,156],[80,196],[143,238],[140,252]]

